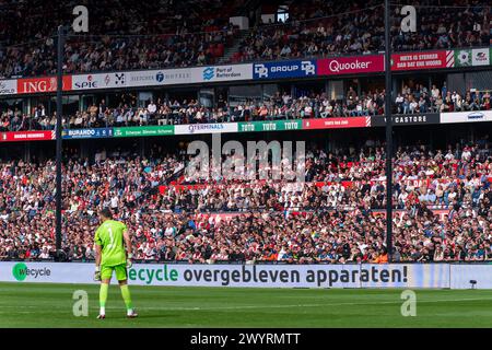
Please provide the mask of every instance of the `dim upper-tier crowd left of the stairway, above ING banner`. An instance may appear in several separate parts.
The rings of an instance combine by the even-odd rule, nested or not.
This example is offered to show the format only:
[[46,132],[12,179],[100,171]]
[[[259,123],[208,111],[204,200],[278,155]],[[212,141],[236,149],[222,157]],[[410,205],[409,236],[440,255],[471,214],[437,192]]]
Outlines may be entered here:
[[[79,4],[0,4],[0,77],[55,74],[56,28],[73,22],[72,10]],[[211,65],[223,56],[235,33],[229,23],[234,2],[110,0],[102,5],[92,0],[85,5],[89,34],[69,33],[66,73]]]

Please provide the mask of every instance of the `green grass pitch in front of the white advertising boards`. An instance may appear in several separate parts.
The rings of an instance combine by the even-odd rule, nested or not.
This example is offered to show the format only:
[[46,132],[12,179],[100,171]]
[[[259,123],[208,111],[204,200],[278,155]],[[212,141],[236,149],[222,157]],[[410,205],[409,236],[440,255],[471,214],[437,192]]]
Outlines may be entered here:
[[[72,313],[75,290],[89,317]],[[130,285],[139,318],[125,317],[117,285],[97,320],[98,285],[0,283],[0,327],[490,327],[492,291],[415,290],[417,316],[400,313],[402,290],[245,289]]]

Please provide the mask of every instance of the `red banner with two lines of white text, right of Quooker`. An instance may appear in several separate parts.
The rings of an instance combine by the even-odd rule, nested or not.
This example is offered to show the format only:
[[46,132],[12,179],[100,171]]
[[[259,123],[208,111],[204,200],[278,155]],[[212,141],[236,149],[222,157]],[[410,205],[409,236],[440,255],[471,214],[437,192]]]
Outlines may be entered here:
[[454,66],[454,50],[435,50],[391,55],[391,70],[395,71],[453,68]]

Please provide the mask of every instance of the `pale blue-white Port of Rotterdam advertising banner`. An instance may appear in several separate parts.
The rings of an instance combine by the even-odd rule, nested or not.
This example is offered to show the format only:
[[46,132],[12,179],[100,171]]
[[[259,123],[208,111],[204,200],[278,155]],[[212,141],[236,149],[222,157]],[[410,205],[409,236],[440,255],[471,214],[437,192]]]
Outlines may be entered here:
[[195,67],[190,69],[191,83],[253,79],[253,65]]

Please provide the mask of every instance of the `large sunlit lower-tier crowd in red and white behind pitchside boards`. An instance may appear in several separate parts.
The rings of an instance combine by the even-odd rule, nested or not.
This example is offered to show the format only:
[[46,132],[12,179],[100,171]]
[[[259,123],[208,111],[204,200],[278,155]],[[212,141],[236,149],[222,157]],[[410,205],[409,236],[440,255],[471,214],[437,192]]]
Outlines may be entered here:
[[[492,258],[492,156],[477,144],[400,148],[395,158],[397,261]],[[306,153],[305,184],[189,178],[183,152],[153,148],[67,152],[63,247],[92,259],[97,211],[128,225],[137,259],[385,262],[384,145]],[[165,154],[165,155],[164,155]],[[269,171],[269,168],[260,168]],[[271,171],[271,168],[270,168]],[[55,249],[51,160],[2,162],[0,258],[50,258]],[[440,210],[435,210],[440,209]]]

